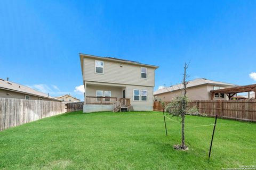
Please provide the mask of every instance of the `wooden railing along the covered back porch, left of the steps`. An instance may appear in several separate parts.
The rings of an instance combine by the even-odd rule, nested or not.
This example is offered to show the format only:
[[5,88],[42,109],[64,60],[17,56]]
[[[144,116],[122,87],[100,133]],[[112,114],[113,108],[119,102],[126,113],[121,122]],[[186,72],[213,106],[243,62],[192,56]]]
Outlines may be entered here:
[[85,104],[86,105],[112,105],[117,101],[117,97],[95,97],[95,96],[86,96]]

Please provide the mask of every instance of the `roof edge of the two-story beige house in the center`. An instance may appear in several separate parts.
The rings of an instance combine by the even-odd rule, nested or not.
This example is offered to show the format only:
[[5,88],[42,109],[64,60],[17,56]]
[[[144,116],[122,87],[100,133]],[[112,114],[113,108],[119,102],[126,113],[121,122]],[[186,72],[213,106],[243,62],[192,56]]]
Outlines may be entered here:
[[82,54],[79,53],[80,56],[80,61],[81,61],[81,68],[82,68],[82,73],[83,73],[83,64],[84,61],[82,60],[84,57],[87,58],[94,58],[97,60],[103,60],[103,61],[111,61],[111,62],[118,62],[118,63],[125,63],[125,64],[132,64],[132,65],[139,65],[139,66],[145,66],[145,67],[153,67],[154,69],[157,69],[159,66],[156,65],[150,65],[150,64],[143,64],[140,62],[136,62],[136,61],[130,61],[130,60],[124,60],[121,58],[115,58],[115,57],[100,57],[100,56],[95,56],[95,55],[89,55],[89,54]]

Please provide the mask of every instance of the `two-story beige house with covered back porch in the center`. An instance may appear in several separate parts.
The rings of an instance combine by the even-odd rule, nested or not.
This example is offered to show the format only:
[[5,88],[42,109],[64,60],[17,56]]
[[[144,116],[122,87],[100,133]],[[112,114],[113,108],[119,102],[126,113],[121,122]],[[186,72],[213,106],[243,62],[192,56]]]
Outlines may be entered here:
[[158,66],[79,54],[85,89],[84,112],[153,111]]

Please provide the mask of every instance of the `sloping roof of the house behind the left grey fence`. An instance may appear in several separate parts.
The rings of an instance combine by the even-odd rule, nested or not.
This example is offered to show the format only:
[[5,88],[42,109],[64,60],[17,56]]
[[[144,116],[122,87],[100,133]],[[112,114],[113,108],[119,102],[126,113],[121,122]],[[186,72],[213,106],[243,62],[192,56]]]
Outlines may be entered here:
[[61,101],[52,96],[48,96],[48,94],[44,94],[43,92],[37,91],[35,89],[31,89],[27,86],[23,86],[18,83],[7,81],[4,79],[0,79],[0,89],[20,92],[22,94],[38,96],[38,97],[47,98],[47,99],[56,100],[56,101]]

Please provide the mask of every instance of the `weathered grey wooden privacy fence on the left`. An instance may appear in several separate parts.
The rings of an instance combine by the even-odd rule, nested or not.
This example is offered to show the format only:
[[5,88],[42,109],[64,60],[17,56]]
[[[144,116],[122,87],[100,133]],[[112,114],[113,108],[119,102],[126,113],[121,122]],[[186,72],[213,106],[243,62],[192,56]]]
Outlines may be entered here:
[[0,98],[0,131],[65,112],[58,101]]

